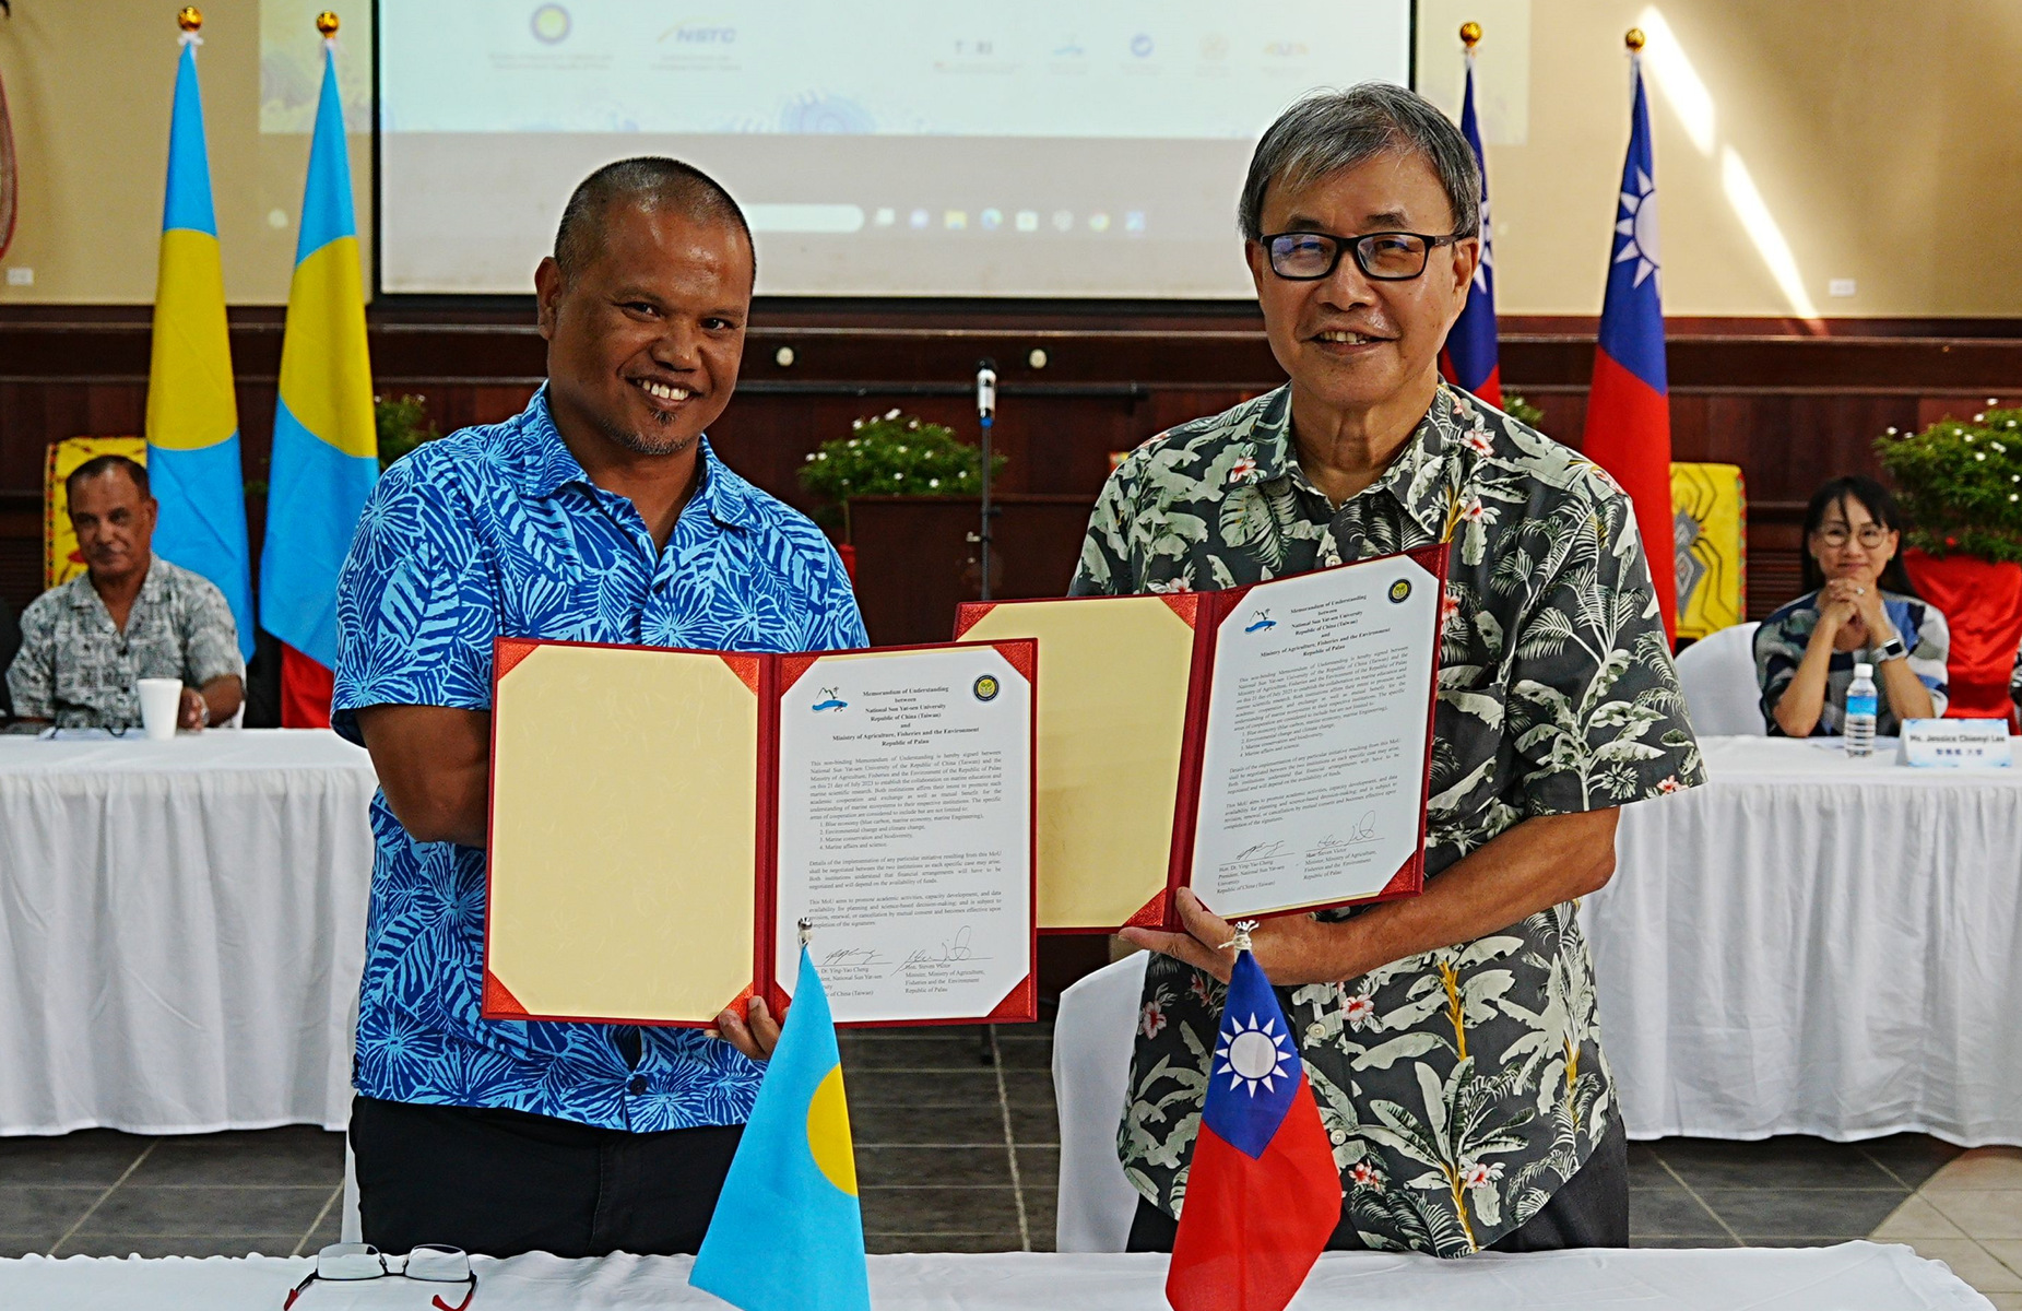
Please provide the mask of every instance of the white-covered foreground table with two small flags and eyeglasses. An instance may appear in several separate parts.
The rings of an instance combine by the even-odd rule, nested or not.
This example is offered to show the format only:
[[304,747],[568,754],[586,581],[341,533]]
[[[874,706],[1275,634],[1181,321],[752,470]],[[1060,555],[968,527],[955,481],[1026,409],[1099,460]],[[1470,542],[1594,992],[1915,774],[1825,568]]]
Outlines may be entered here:
[[[170,1256],[115,1260],[24,1256],[0,1260],[0,1305],[67,1311],[275,1311],[309,1273],[307,1258]],[[562,1260],[479,1256],[471,1311],[588,1307],[710,1307],[687,1287],[687,1256]],[[1165,1311],[1165,1256],[871,1256],[878,1311]],[[429,1305],[429,1287],[404,1279],[311,1285],[299,1311]],[[1988,1299],[1907,1246],[1605,1250],[1482,1254],[1466,1260],[1389,1252],[1328,1252],[1292,1301],[1294,1311],[1423,1311],[1423,1307],[1595,1307],[1636,1311],[1992,1311]]]

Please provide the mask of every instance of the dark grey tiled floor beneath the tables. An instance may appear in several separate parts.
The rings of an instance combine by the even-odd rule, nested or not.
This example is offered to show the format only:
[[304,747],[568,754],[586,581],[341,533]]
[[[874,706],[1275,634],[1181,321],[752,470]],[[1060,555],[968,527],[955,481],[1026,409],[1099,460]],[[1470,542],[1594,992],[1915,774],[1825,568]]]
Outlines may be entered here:
[[[1060,1129],[1045,1028],[843,1034],[874,1252],[1047,1250]],[[344,1139],[315,1129],[0,1139],[0,1254],[313,1252]],[[2022,1311],[2022,1151],[1937,1139],[1630,1147],[1636,1246],[1911,1242]]]

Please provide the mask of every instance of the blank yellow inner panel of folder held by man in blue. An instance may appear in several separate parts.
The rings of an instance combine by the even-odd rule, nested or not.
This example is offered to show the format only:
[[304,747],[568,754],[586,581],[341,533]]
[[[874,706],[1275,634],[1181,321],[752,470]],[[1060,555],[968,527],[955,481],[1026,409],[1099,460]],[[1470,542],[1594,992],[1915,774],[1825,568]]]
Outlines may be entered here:
[[544,645],[493,716],[491,975],[532,1016],[714,1020],[752,981],[758,696],[718,656]]

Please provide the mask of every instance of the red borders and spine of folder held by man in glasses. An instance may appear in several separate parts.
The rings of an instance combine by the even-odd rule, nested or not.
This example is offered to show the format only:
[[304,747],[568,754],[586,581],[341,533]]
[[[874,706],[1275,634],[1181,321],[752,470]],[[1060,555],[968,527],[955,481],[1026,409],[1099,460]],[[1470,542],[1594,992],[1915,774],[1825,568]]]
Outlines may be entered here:
[[[1419,569],[1430,573],[1442,593],[1446,587],[1448,573],[1448,546],[1428,544],[1401,556],[1413,560]],[[1377,564],[1383,560],[1395,560],[1397,556],[1375,556],[1371,560],[1355,560],[1351,564],[1339,564],[1335,569],[1357,569],[1363,564]],[[1260,591],[1272,589],[1280,583],[1304,579],[1310,575],[1292,575],[1290,579],[1274,579],[1268,583],[1252,583],[1246,587],[1231,587],[1225,591],[1211,593],[1177,593],[1161,595],[1159,599],[1173,609],[1191,629],[1193,629],[1193,651],[1191,651],[1191,674],[1187,678],[1187,714],[1181,728],[1179,740],[1179,771],[1173,779],[1177,789],[1177,801],[1173,809],[1173,832],[1167,846],[1167,878],[1165,888],[1153,896],[1144,906],[1124,923],[1053,923],[1047,916],[1045,902],[1045,880],[1041,878],[1041,904],[1039,904],[1039,931],[1041,933],[1116,933],[1122,927],[1148,927],[1148,929],[1173,929],[1177,931],[1179,914],[1173,894],[1191,882],[1193,858],[1195,858],[1195,832],[1201,805],[1201,757],[1207,736],[1207,712],[1209,698],[1213,696],[1213,668],[1215,668],[1215,645],[1221,635],[1223,621],[1235,613],[1244,601]],[[1045,601],[973,601],[964,603],[956,613],[954,635],[960,639],[969,635],[987,615],[999,613],[1001,609],[1017,611],[1019,607],[1035,605],[1078,605],[1084,601],[1108,601],[1112,597],[1064,597]],[[1444,613],[1444,609],[1436,609]],[[1009,631],[1017,631],[1017,619],[1011,617],[1007,625]],[[997,631],[997,629],[993,629]],[[1397,866],[1389,882],[1371,896],[1359,896],[1341,902],[1316,902],[1302,904],[1284,910],[1274,910],[1268,914],[1304,914],[1318,908],[1345,906],[1345,904],[1365,904],[1393,900],[1399,896],[1413,896],[1423,890],[1426,884],[1426,801],[1430,793],[1430,773],[1432,773],[1432,724],[1438,710],[1438,666],[1440,666],[1440,639],[1438,629],[1432,633],[1432,696],[1426,706],[1426,751],[1419,763],[1419,807],[1417,807],[1417,842],[1411,854]],[[1041,651],[1043,653],[1043,651]],[[1060,690],[1062,682],[1076,678],[1076,670],[1064,668],[1060,662],[1049,660],[1047,684]],[[1130,797],[1118,797],[1118,805],[1130,805]],[[1043,813],[1045,801],[1041,799],[1039,827],[1047,827],[1047,815]],[[1043,848],[1043,842],[1041,842]]]

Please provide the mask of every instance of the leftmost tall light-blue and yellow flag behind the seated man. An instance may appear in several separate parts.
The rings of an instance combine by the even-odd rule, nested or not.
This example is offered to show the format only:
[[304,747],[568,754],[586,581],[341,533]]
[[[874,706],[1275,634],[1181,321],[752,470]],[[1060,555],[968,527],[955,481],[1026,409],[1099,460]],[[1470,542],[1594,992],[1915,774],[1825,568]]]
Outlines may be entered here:
[[148,482],[162,504],[154,552],[218,585],[239,625],[239,649],[251,658],[253,552],[239,467],[239,401],[192,34],[184,34],[168,129],[168,200],[148,366]]

